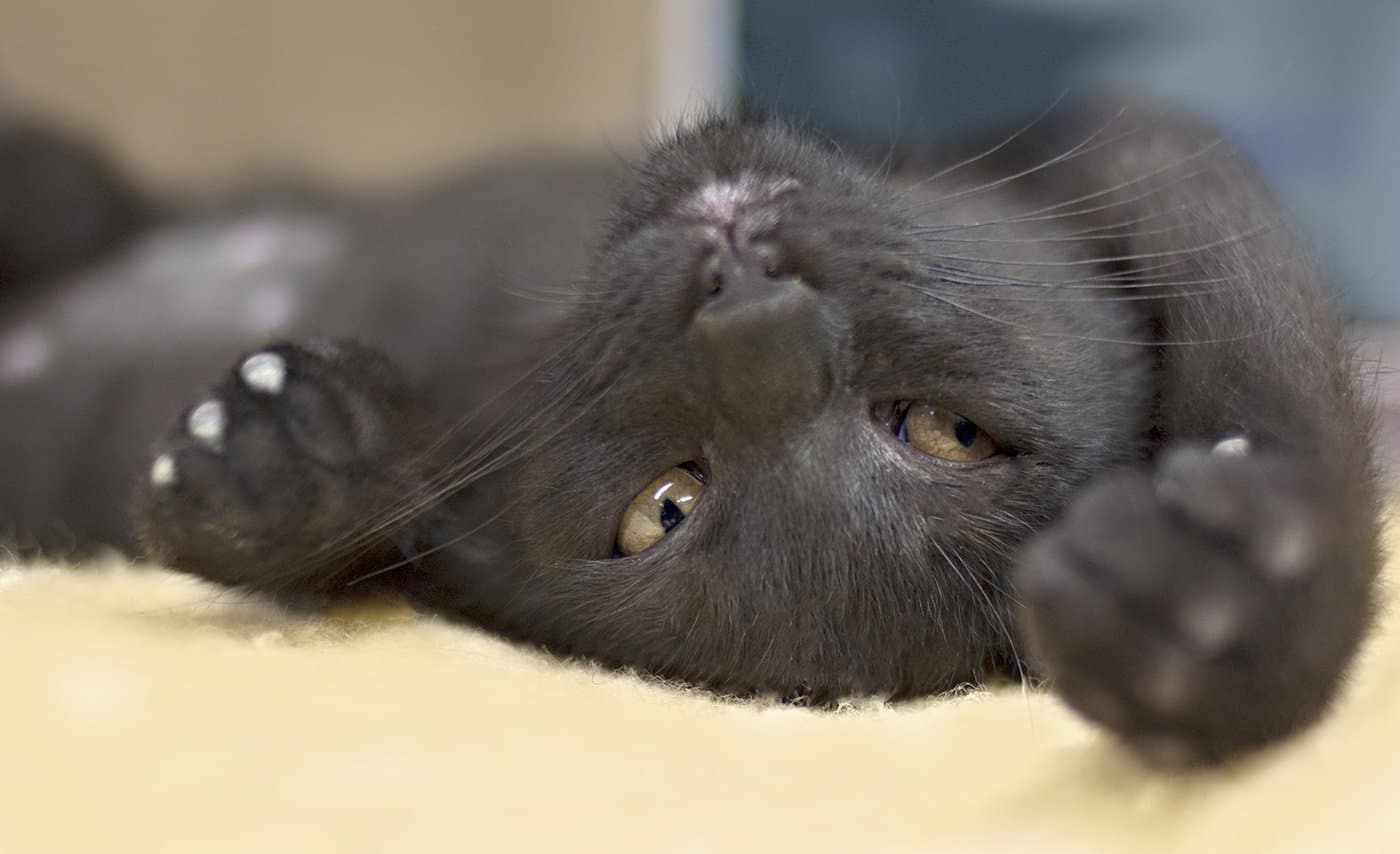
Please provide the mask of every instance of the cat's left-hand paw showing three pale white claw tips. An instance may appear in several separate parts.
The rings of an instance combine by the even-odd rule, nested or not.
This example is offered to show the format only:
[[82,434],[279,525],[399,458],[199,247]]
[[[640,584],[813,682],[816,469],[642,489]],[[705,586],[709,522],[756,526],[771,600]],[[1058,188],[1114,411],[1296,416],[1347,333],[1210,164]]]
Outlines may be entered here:
[[402,388],[357,344],[244,356],[157,442],[136,496],[148,553],[228,584],[321,587],[330,547],[393,494]]

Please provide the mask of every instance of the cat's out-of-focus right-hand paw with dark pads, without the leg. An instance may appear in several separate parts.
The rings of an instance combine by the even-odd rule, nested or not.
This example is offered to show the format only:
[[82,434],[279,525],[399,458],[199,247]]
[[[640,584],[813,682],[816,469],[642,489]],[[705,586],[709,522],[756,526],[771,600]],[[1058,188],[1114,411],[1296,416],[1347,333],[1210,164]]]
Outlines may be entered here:
[[1371,508],[1348,496],[1303,461],[1194,448],[1103,476],[1019,563],[1033,658],[1161,763],[1288,735],[1326,707],[1368,617],[1373,543],[1347,514]]

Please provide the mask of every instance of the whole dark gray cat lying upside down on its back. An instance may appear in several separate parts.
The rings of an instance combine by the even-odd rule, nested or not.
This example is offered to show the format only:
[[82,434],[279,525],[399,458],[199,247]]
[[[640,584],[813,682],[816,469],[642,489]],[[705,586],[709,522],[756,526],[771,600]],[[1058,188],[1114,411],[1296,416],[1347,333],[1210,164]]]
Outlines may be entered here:
[[0,188],[21,550],[134,546],[134,482],[150,554],[288,602],[816,704],[1029,672],[1170,764],[1316,720],[1369,620],[1351,344],[1172,111],[899,169],[710,118],[209,206],[10,119]]

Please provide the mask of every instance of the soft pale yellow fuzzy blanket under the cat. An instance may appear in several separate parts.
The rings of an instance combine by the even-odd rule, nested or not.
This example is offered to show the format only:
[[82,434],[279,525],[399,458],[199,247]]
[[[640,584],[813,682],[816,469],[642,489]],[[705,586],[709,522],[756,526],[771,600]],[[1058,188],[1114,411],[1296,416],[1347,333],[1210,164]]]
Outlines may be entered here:
[[725,704],[402,610],[0,568],[0,853],[1396,850],[1392,623],[1322,727],[1169,776],[1014,687]]

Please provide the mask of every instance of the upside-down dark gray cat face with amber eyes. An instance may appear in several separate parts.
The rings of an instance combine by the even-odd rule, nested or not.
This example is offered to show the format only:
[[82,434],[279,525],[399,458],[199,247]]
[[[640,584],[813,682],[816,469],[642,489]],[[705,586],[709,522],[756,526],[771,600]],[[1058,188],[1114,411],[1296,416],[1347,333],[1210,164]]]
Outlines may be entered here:
[[[1039,239],[1058,223],[1004,221],[1032,207],[773,127],[659,144],[521,416],[493,612],[739,693],[920,693],[1008,659],[1011,556],[1137,452],[1151,396],[1144,349],[1106,340],[1141,335],[1124,305],[988,284],[1098,269]],[[973,221],[1001,224],[938,227]]]

